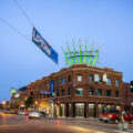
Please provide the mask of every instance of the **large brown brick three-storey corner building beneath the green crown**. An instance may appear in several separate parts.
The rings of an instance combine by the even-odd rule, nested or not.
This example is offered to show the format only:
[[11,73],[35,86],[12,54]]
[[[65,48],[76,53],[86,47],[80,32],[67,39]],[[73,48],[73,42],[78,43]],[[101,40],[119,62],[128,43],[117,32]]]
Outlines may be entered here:
[[73,64],[28,84],[35,110],[49,115],[96,117],[121,109],[122,72],[109,68]]

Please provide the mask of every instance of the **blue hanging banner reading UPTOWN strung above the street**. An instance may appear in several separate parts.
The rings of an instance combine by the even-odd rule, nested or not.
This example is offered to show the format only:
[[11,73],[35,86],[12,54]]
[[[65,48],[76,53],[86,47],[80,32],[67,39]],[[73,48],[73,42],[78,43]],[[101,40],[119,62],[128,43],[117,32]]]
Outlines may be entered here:
[[58,53],[51,48],[51,45],[40,35],[35,28],[32,32],[32,41],[58,64]]

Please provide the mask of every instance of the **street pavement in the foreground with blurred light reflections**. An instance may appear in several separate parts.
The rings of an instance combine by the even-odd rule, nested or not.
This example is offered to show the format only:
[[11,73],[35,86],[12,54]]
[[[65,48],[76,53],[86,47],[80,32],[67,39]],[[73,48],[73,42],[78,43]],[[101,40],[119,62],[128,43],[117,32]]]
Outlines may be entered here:
[[[130,125],[132,129],[133,125]],[[24,115],[0,114],[0,133],[114,133],[116,124],[96,119],[29,119]],[[123,133],[133,133],[131,130]]]

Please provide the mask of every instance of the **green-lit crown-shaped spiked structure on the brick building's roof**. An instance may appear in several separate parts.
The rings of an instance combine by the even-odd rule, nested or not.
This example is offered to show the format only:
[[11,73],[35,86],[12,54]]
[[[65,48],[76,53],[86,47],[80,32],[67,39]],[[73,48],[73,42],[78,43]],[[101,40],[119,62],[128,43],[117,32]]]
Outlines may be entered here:
[[99,65],[99,53],[100,49],[94,48],[94,41],[92,45],[88,45],[88,37],[85,38],[85,45],[81,44],[81,39],[79,37],[79,45],[75,47],[74,39],[72,39],[73,48],[70,49],[69,43],[66,42],[66,51],[62,48],[62,51],[65,57],[66,65],[71,66],[75,63],[86,63],[88,65]]

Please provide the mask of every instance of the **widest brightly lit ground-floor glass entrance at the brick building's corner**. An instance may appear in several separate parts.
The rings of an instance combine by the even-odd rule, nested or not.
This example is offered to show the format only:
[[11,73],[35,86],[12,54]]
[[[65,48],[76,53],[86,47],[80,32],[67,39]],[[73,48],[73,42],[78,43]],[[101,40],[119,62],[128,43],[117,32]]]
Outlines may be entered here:
[[75,103],[75,116],[84,117],[84,103]]

